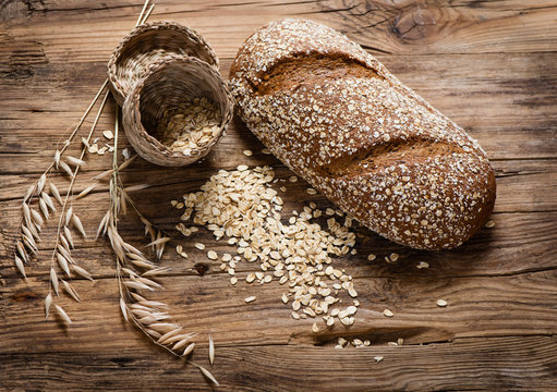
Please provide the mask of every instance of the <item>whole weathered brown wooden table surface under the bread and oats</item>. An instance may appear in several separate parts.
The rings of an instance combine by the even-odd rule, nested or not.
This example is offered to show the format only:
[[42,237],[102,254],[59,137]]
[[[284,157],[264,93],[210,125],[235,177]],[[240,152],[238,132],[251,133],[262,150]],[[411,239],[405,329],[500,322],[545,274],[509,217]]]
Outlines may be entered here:
[[[525,5],[528,4],[528,5]],[[209,390],[193,367],[154,346],[119,313],[114,258],[106,241],[80,241],[75,258],[95,281],[75,280],[83,303],[59,299],[74,322],[44,321],[55,220],[45,229],[27,282],[13,267],[20,205],[106,77],[106,62],[131,29],[142,2],[132,0],[0,1],[0,389]],[[126,185],[144,213],[174,234],[161,261],[172,273],[157,292],[189,331],[198,332],[193,359],[226,391],[557,390],[557,1],[179,1],[159,0],[152,21],[170,20],[204,35],[228,75],[245,38],[258,26],[304,17],[346,33],[402,82],[462,125],[487,151],[497,174],[493,229],[458,249],[417,252],[360,229],[355,256],[335,259],[352,274],[361,308],[350,329],[314,334],[312,319],[293,320],[278,282],[249,285],[257,265],[241,262],[232,286],[205,230],[185,238],[173,230],[170,200],[193,192],[217,170],[270,164],[291,173],[234,120],[201,163],[165,169],[136,160]],[[114,102],[99,133],[113,124]],[[83,133],[90,125],[86,122]],[[98,135],[97,135],[98,136]],[[124,137],[122,145],[126,145]],[[77,154],[77,144],[70,152]],[[253,157],[242,155],[251,149]],[[76,189],[110,167],[111,155],[87,157]],[[63,175],[53,174],[60,188]],[[284,217],[320,195],[288,185]],[[74,203],[94,233],[108,206],[106,185]],[[122,234],[145,244],[141,223]],[[172,246],[190,254],[181,259]],[[375,261],[366,255],[376,254]],[[384,257],[400,259],[387,264]],[[420,261],[429,268],[419,269]],[[257,301],[245,304],[244,298]],[[436,299],[448,306],[436,306]],[[389,308],[395,317],[386,318]],[[207,333],[216,360],[207,364]],[[364,348],[335,350],[338,336],[368,339]],[[389,346],[403,339],[402,346]],[[380,363],[374,357],[383,356]]]

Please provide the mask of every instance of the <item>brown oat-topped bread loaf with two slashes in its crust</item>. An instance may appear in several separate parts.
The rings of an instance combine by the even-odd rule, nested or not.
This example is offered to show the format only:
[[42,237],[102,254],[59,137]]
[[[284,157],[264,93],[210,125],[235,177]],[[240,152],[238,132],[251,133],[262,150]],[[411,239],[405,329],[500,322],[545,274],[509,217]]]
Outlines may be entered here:
[[453,248],[492,212],[495,175],[476,140],[340,33],[270,23],[244,42],[230,79],[247,127],[376,233]]

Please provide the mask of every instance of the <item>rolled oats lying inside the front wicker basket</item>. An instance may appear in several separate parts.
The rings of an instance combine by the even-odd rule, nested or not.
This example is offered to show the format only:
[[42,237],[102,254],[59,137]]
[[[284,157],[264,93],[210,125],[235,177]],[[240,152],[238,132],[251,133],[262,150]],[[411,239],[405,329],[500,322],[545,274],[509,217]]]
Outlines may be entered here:
[[190,155],[218,136],[220,111],[206,97],[167,110],[157,127],[157,139],[172,151]]

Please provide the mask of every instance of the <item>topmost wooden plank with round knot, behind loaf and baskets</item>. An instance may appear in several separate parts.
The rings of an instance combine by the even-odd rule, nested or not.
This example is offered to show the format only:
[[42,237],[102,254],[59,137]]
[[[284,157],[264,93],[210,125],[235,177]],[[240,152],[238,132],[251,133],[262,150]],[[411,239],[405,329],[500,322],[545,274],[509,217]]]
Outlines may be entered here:
[[[555,1],[157,3],[152,20],[192,25],[223,57],[234,56],[238,46],[262,24],[287,16],[313,19],[370,48],[404,54],[552,51],[557,38]],[[1,10],[0,16],[10,27],[9,40],[38,34],[52,59],[63,61],[70,51],[73,59],[89,61],[106,59],[108,48],[133,26],[141,2],[111,0],[99,7],[87,0],[41,1],[36,9],[24,2],[13,8],[16,10]],[[84,20],[89,23],[82,23]],[[60,28],[52,29],[52,25]]]

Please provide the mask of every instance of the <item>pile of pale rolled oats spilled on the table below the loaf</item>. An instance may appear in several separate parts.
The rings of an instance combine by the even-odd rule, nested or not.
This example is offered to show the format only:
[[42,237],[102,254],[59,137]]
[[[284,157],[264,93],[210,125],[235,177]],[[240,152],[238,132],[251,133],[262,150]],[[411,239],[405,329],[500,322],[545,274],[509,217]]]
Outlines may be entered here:
[[[217,241],[227,236],[228,244],[235,246],[235,256],[216,255],[214,250],[207,254],[209,259],[220,257],[220,268],[231,275],[231,284],[238,283],[234,268],[242,258],[258,262],[259,270],[247,273],[245,281],[263,285],[278,280],[284,286],[281,301],[290,304],[294,319],[320,317],[329,328],[336,319],[344,327],[353,324],[360,303],[352,277],[332,266],[332,256],[355,253],[352,220],[340,210],[324,215],[310,203],[283,221],[282,199],[270,187],[278,181],[269,167],[220,170],[202,186],[202,192],[185,194],[183,203],[173,200],[172,205],[184,208],[183,221],[193,217],[193,222],[205,225]],[[327,218],[327,230],[314,221],[322,216]],[[341,218],[343,222],[337,221]],[[195,232],[193,228],[177,225],[186,236]],[[245,298],[245,303],[254,301],[254,295]],[[312,330],[319,331],[317,322]]]

